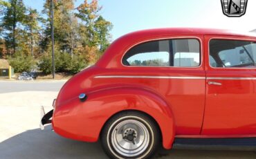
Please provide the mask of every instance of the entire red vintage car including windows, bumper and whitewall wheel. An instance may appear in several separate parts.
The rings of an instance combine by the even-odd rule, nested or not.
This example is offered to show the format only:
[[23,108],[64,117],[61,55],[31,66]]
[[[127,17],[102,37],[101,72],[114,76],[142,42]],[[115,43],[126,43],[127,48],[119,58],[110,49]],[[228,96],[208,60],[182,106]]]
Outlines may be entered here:
[[111,158],[149,158],[161,145],[254,146],[255,61],[253,33],[132,32],[64,84],[41,127],[52,123],[74,140],[100,139]]

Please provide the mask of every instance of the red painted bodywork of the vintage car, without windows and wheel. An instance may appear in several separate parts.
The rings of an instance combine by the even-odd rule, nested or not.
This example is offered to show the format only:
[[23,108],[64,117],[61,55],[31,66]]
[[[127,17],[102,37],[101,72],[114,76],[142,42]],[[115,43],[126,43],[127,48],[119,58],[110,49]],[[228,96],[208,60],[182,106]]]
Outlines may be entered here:
[[[200,65],[122,64],[134,46],[165,39],[198,40]],[[210,66],[212,39],[256,41],[249,33],[199,28],[142,30],[120,37],[94,66],[64,84],[55,101],[53,129],[66,138],[96,142],[109,118],[135,110],[156,121],[165,149],[172,148],[174,138],[255,137],[256,67]],[[86,93],[85,102],[80,93]]]

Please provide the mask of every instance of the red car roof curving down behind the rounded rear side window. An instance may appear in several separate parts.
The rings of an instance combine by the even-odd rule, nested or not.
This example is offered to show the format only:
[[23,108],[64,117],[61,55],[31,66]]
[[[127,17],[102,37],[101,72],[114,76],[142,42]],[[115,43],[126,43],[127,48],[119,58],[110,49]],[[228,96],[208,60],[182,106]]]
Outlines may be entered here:
[[148,30],[139,30],[119,37],[109,46],[104,55],[96,65],[104,68],[118,68],[122,66],[120,60],[126,50],[140,43],[151,39],[165,39],[169,37],[193,37],[203,35],[235,36],[235,37],[253,37],[254,32],[238,32],[233,30],[221,30],[211,28],[156,28]]

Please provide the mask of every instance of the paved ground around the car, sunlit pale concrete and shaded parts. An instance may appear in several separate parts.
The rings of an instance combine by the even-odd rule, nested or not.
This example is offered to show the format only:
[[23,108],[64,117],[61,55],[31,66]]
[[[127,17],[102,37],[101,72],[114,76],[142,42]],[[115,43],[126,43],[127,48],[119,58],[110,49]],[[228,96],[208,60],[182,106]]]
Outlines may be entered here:
[[[15,85],[16,84],[16,85]],[[27,86],[22,86],[27,84]],[[47,91],[49,84],[52,87]],[[64,82],[0,82],[0,90],[8,88],[8,93],[0,93],[0,158],[107,158],[100,143],[86,143],[68,140],[51,131],[51,125],[44,131],[39,129],[40,106],[51,110],[53,99]],[[19,91],[15,86],[19,85]],[[30,86],[32,85],[32,86]],[[42,86],[35,88],[33,86]],[[156,158],[256,158],[253,151],[202,151],[163,150]]]

